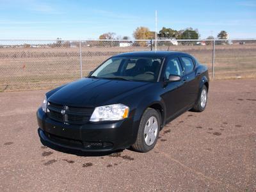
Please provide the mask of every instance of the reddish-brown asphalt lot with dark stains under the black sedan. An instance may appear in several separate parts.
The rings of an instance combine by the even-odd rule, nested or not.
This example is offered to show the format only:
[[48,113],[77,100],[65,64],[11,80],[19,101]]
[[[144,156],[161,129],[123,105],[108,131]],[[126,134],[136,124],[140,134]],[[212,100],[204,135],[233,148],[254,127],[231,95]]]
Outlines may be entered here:
[[42,146],[36,109],[45,92],[0,93],[0,191],[256,190],[256,80],[211,82],[207,109],[170,122],[146,154]]

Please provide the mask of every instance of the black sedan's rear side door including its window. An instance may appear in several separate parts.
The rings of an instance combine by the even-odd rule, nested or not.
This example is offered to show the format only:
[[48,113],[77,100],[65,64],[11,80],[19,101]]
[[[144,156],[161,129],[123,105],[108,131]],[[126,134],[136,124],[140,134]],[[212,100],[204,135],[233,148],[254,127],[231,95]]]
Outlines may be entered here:
[[198,90],[198,86],[196,84],[195,79],[195,63],[190,56],[179,56],[184,76],[182,77],[182,83],[184,85],[184,104],[186,106],[191,106],[195,104],[196,100],[196,91]]

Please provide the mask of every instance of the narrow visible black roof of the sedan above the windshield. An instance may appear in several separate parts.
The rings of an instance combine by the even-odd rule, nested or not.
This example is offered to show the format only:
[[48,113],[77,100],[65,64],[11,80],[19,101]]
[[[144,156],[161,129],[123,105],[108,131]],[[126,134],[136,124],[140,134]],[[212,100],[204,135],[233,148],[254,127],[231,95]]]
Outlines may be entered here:
[[118,56],[145,56],[145,57],[159,57],[165,58],[166,56],[179,55],[179,54],[189,54],[185,52],[177,52],[177,51],[134,51],[134,52],[124,52],[121,54],[115,55]]

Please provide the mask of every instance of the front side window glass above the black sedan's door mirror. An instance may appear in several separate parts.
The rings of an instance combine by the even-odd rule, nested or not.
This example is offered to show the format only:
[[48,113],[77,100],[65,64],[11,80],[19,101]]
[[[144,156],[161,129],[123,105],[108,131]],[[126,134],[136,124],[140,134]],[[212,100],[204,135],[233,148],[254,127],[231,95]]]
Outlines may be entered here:
[[180,66],[179,58],[173,58],[166,64],[164,78],[169,79],[170,75],[182,76],[182,68]]

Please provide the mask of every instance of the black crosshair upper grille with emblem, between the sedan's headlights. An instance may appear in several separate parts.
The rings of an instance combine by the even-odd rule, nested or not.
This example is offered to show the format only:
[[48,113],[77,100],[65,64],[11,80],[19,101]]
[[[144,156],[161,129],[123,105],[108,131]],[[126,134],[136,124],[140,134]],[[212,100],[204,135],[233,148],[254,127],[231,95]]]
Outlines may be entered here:
[[92,116],[93,108],[77,108],[48,102],[47,116],[52,120],[67,124],[86,124]]

